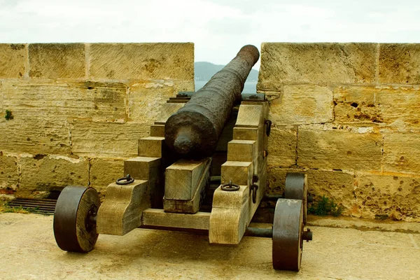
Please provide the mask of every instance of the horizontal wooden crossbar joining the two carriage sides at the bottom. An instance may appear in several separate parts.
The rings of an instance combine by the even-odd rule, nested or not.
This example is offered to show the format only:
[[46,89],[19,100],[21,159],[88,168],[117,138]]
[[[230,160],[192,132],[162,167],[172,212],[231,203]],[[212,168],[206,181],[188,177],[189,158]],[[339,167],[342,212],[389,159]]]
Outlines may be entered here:
[[162,209],[146,209],[141,217],[141,225],[181,228],[194,230],[209,230],[210,213],[196,214],[167,213]]

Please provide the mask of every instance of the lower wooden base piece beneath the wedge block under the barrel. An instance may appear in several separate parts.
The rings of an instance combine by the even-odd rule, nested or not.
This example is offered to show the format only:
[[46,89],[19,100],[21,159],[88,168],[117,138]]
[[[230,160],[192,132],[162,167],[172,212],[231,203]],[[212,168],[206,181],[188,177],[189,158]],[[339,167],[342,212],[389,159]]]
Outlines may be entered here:
[[[204,161],[205,168],[200,176],[200,180],[197,182],[195,187],[195,192],[191,200],[171,200],[168,199],[165,195],[163,200],[163,209],[165,212],[172,213],[184,213],[184,214],[195,214],[200,209],[202,200],[207,193],[207,185],[209,183],[210,176],[210,167],[211,167],[211,158]],[[182,186],[179,186],[182,187]],[[165,189],[166,193],[166,189]]]

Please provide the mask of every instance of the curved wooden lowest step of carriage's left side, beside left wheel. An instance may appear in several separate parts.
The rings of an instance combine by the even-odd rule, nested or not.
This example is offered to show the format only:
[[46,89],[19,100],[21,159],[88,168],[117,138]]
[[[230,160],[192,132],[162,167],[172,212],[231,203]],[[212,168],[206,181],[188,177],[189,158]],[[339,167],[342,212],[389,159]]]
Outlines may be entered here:
[[130,185],[111,183],[106,188],[106,200],[99,207],[97,232],[105,235],[125,235],[141,225],[141,211],[151,207],[148,181],[136,180]]

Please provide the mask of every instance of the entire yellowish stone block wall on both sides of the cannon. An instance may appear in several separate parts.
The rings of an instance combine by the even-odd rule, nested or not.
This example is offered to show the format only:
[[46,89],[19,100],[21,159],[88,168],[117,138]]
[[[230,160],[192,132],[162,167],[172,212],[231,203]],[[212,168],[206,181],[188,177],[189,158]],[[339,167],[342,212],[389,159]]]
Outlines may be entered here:
[[[0,44],[0,196],[104,195],[181,90],[193,43]],[[262,43],[257,90],[269,192],[306,171],[347,216],[420,221],[420,44]]]

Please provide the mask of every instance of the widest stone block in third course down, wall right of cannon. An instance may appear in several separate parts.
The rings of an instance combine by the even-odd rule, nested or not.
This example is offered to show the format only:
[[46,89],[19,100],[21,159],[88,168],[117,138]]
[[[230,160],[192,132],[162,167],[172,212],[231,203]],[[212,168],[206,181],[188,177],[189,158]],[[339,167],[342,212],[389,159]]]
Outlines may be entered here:
[[382,137],[365,128],[297,133],[297,165],[307,168],[379,170]]

